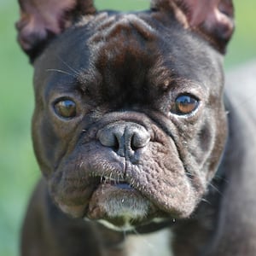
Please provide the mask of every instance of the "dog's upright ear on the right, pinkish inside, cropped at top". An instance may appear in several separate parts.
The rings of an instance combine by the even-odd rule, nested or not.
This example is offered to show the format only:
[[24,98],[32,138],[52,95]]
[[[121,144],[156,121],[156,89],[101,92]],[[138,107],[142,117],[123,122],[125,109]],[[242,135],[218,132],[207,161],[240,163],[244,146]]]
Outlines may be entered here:
[[232,0],[152,0],[151,8],[174,12],[184,27],[198,32],[225,53],[235,27]]

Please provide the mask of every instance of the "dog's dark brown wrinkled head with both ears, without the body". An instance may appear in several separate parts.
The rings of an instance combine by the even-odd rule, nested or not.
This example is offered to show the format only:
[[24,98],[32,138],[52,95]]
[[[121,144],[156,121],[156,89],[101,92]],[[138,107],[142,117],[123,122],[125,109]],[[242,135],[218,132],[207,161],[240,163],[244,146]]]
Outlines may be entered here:
[[20,9],[34,148],[55,203],[122,229],[189,217],[224,149],[231,1],[153,0],[129,14],[86,0]]

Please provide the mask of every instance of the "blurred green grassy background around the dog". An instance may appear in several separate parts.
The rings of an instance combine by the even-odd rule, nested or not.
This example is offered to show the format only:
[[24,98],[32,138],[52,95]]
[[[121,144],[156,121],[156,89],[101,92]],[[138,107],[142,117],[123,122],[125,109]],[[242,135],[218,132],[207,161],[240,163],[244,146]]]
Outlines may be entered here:
[[[147,0],[98,0],[99,9],[146,9]],[[235,0],[236,34],[225,68],[256,59],[256,1]],[[32,67],[16,44],[18,4],[0,0],[0,255],[18,255],[20,224],[39,177],[32,151]],[[241,81],[242,83],[242,81]]]

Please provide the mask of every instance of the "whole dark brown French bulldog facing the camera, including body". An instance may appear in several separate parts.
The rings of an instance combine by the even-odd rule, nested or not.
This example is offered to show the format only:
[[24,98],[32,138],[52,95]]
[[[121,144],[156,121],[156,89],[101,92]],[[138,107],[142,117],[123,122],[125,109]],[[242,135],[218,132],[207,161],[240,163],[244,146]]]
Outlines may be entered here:
[[44,174],[21,254],[255,256],[256,108],[238,105],[242,81],[238,101],[224,96],[232,1],[20,10]]

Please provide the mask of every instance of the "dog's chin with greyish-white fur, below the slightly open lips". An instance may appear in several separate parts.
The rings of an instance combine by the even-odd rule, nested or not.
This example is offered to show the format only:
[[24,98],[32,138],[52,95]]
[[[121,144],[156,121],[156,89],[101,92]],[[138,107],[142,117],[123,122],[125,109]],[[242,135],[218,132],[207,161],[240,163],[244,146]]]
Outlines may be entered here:
[[112,230],[133,230],[148,221],[154,206],[127,183],[102,183],[90,198],[86,218]]

